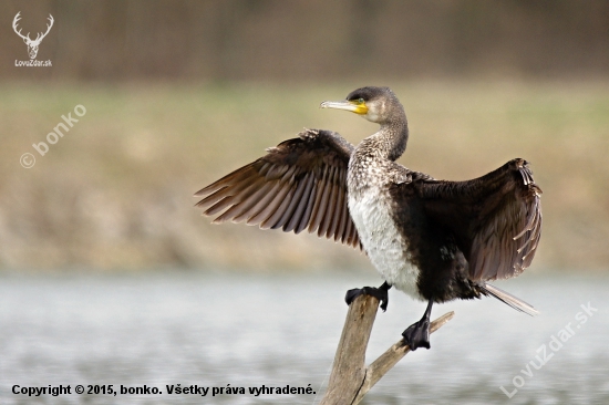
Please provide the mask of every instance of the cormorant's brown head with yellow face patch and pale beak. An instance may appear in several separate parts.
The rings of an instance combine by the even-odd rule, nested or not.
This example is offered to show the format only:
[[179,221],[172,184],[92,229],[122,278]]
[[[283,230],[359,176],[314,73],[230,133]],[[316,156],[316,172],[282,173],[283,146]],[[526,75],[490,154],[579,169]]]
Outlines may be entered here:
[[349,93],[343,101],[326,101],[320,107],[347,110],[381,125],[405,116],[402,104],[389,87],[361,87]]

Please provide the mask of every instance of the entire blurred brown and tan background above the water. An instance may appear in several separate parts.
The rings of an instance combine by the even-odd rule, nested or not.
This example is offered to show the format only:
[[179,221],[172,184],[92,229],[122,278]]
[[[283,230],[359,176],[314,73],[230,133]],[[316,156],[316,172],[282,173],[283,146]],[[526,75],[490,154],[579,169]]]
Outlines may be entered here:
[[[37,58],[52,68],[14,65],[18,11],[31,38],[53,15]],[[41,0],[0,15],[3,269],[370,267],[313,236],[213,226],[192,197],[303,126],[358,143],[374,125],[318,105],[362,85],[403,102],[410,168],[466,179],[531,162],[534,267],[609,269],[608,1]]]

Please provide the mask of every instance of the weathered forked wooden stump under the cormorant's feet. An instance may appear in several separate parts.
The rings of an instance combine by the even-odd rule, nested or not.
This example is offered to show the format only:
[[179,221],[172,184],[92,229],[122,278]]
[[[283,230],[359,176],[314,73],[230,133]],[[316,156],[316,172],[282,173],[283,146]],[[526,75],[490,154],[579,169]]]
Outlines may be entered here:
[[[379,310],[372,295],[358,297],[347,313],[332,374],[320,405],[354,405],[411,350],[402,340],[389,347],[379,359],[365,366],[365,349]],[[448,322],[454,312],[445,313],[430,325],[430,333]]]

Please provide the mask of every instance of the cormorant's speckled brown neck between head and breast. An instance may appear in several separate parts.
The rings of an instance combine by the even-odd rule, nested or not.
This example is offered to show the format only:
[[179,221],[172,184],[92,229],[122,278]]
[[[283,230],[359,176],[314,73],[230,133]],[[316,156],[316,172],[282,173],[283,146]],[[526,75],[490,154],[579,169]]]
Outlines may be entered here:
[[409,141],[409,124],[406,118],[389,122],[381,125],[375,134],[362,141],[362,148],[374,150],[374,155],[382,159],[396,160],[406,149]]

